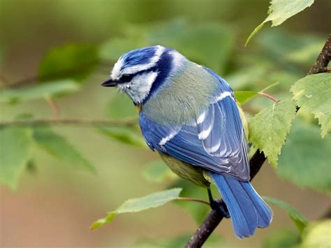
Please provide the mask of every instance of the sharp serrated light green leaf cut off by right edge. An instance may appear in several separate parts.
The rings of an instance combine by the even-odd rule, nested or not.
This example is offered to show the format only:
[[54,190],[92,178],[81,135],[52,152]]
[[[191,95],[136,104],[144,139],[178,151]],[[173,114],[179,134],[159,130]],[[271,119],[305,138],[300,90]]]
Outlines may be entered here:
[[307,75],[290,88],[297,104],[315,115],[322,138],[331,130],[331,73]]

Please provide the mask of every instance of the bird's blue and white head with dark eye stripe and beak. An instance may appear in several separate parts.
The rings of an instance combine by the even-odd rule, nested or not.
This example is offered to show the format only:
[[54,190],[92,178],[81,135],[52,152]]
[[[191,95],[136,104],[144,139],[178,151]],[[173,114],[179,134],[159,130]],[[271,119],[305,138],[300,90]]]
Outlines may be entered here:
[[185,57],[176,50],[155,45],[123,54],[112,68],[110,79],[102,84],[117,87],[140,105],[156,92]]

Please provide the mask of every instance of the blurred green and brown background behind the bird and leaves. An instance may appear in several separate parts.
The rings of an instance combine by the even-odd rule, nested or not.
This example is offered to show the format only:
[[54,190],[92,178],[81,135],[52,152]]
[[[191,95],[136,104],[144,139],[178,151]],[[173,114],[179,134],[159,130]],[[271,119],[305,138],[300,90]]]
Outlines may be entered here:
[[[268,1],[262,0],[0,0],[1,87],[15,87],[15,82],[35,77],[41,59],[54,46],[102,44],[102,61],[84,80],[82,88],[56,100],[61,117],[132,117],[134,108],[123,100],[124,96],[100,84],[108,78],[113,62],[122,52],[160,43],[213,68],[234,89],[260,90],[279,82],[274,94],[281,99],[288,94],[290,85],[309,71],[323,47],[330,31],[331,3],[316,1],[281,27],[265,24],[244,48],[251,31],[267,16],[268,6]],[[114,98],[116,101],[112,101]],[[249,117],[268,104],[267,99],[257,99],[244,105],[244,110]],[[38,119],[52,117],[43,100],[1,103],[0,108],[1,120],[13,119],[22,112]],[[302,119],[311,116],[302,113]],[[151,182],[144,177],[145,165],[159,159],[146,147],[120,143],[87,126],[56,126],[54,131],[68,138],[97,173],[79,170],[34,147],[34,166],[24,171],[18,189],[0,186],[1,247],[174,247],[176,239],[186,240],[196,231],[198,224],[189,212],[197,215],[198,211],[203,219],[207,209],[196,210],[199,203],[189,203],[189,211],[168,203],[146,212],[124,214],[104,228],[89,231],[93,221],[124,200],[165,189],[176,184],[177,179]],[[284,155],[280,171],[284,171],[282,161],[291,162]],[[330,156],[323,160],[326,165],[330,162]],[[284,172],[281,177],[288,179],[290,175]],[[330,207],[328,195],[280,179],[267,164],[253,185],[263,196],[286,200],[309,220],[320,219]],[[309,183],[303,186],[314,189]],[[330,185],[328,189],[330,192]],[[191,196],[195,190],[196,198],[206,198],[193,186]],[[297,237],[286,213],[272,208],[274,220],[270,228],[259,229],[249,239],[237,240],[227,219],[206,247],[270,247],[267,242],[272,238],[266,241],[267,237],[280,237],[279,230],[290,230],[294,233],[291,237]],[[174,243],[169,245],[169,240]]]

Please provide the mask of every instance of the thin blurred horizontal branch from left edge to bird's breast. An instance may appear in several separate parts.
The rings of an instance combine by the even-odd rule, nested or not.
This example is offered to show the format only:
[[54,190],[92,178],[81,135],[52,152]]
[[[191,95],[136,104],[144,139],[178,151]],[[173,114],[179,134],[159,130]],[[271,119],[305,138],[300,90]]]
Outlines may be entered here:
[[11,122],[0,122],[0,127],[6,126],[45,126],[45,125],[78,125],[78,126],[128,126],[132,127],[137,124],[135,119],[128,119],[123,121],[109,121],[109,120],[89,120],[89,119],[32,119],[32,120],[15,120]]

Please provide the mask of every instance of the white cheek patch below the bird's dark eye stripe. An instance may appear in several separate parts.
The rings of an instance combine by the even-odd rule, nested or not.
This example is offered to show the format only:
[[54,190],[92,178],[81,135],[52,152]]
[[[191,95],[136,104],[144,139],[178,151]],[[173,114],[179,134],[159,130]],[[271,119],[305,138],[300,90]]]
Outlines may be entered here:
[[120,84],[117,87],[139,104],[148,96],[157,75],[158,73],[155,71],[136,75],[131,82]]

